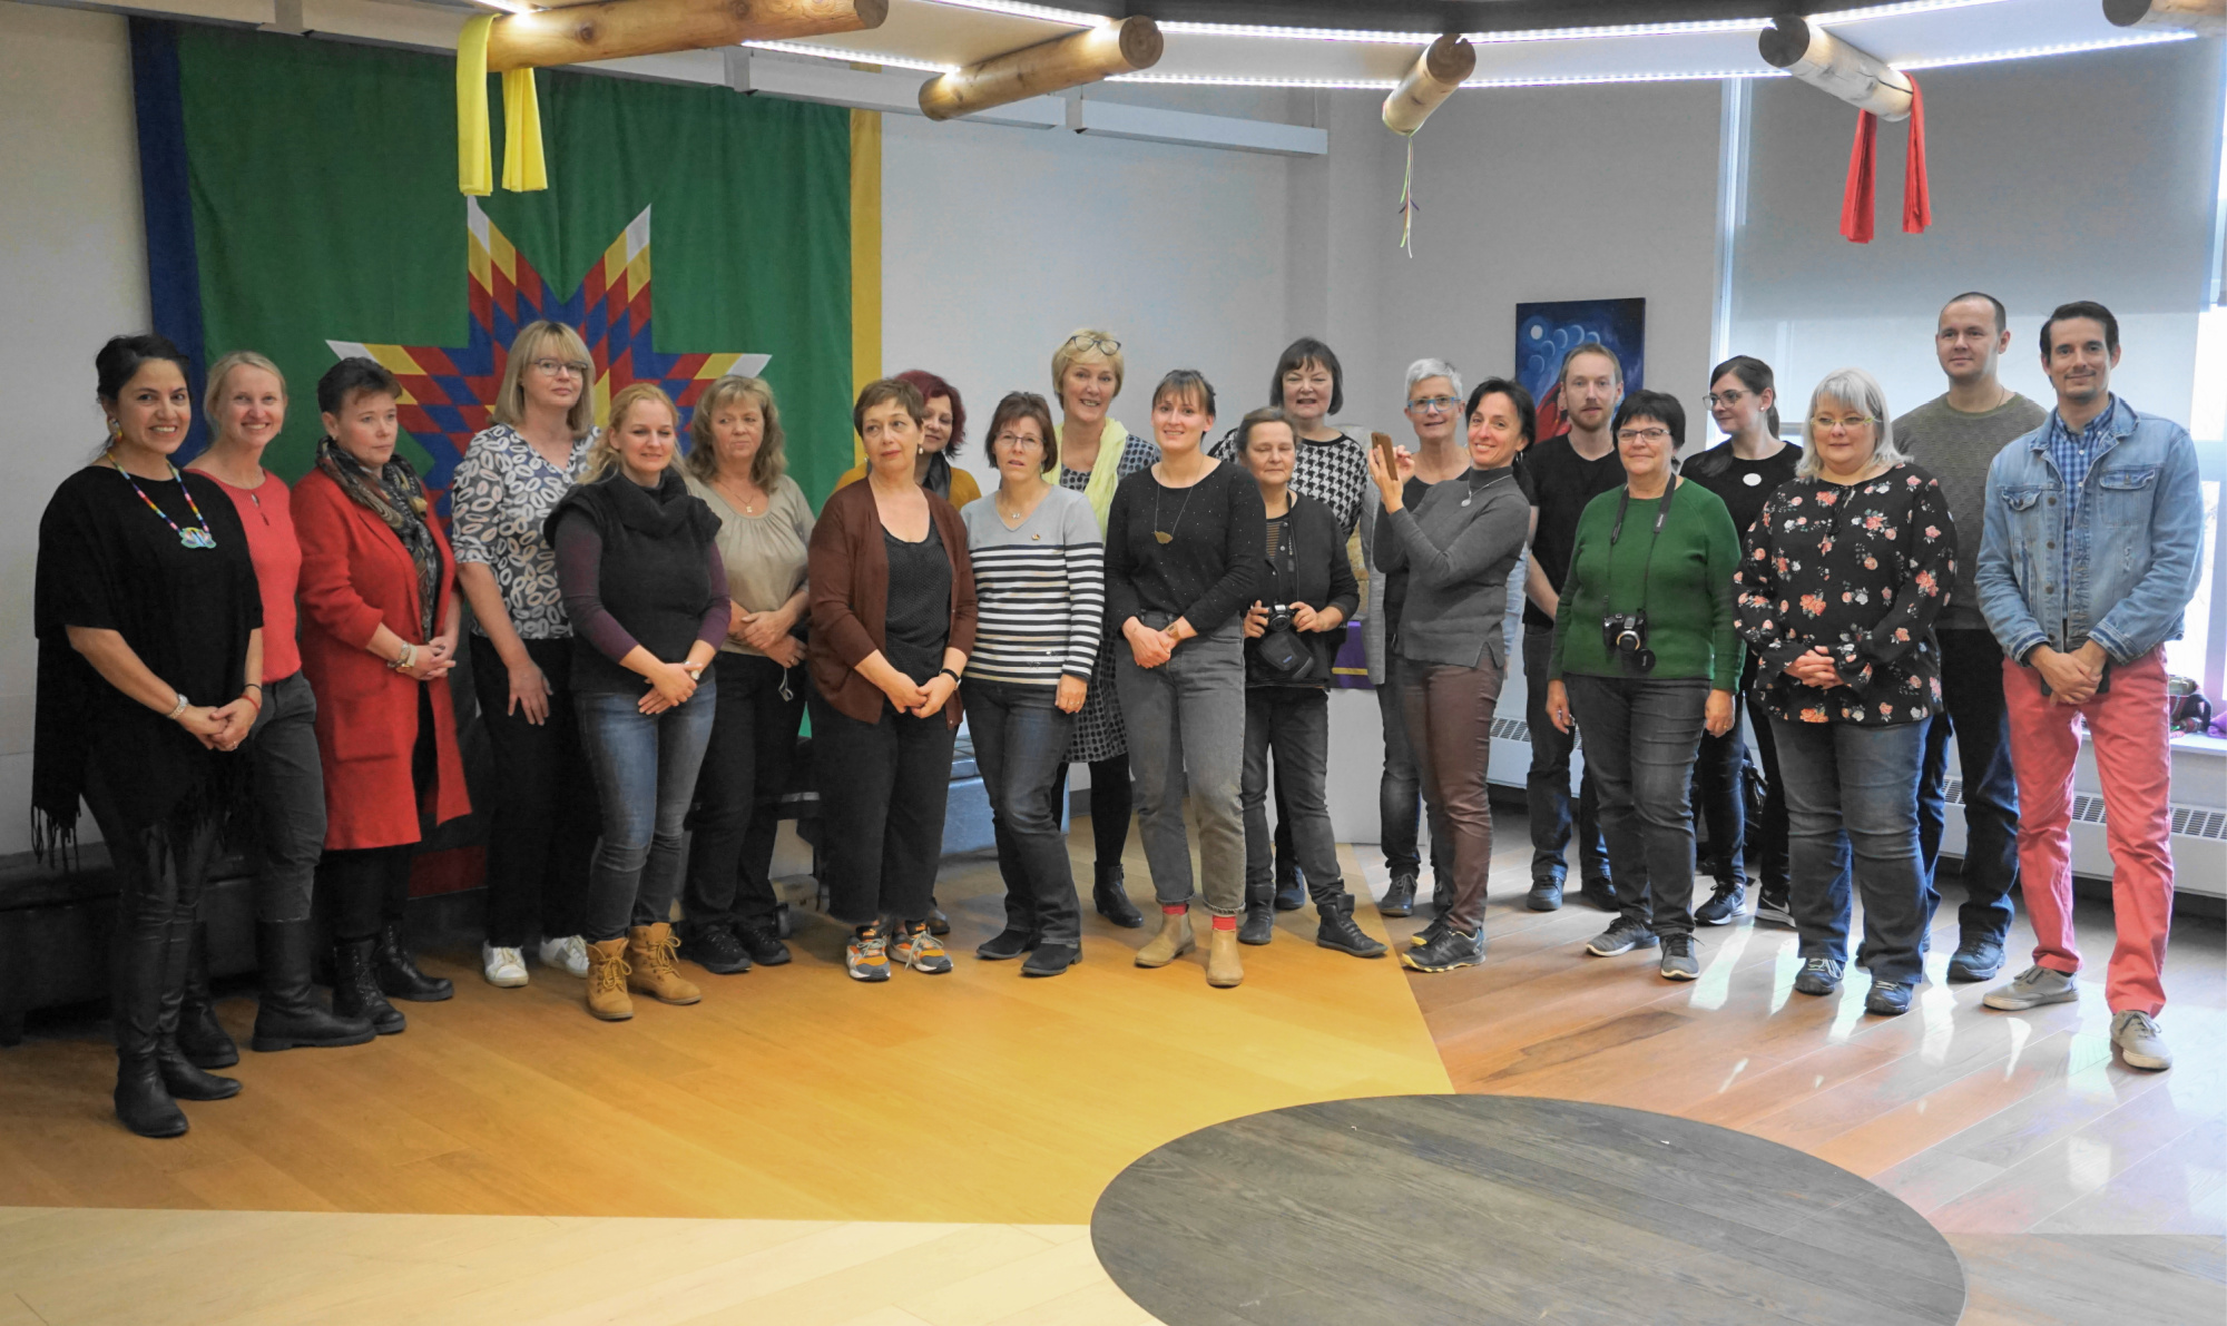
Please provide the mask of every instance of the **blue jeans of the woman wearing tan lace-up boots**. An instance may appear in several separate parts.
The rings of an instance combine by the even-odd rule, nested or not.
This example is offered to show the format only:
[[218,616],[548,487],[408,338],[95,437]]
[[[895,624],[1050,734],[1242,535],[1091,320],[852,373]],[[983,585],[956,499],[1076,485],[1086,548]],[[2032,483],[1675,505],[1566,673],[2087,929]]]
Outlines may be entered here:
[[579,703],[581,745],[604,805],[604,837],[588,865],[588,943],[619,939],[628,926],[673,919],[681,888],[681,825],[697,768],[719,712],[719,683],[706,674],[695,694],[664,714],[644,714],[639,696],[588,694]]

